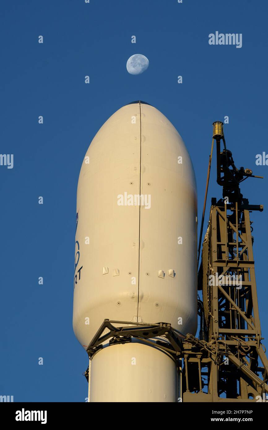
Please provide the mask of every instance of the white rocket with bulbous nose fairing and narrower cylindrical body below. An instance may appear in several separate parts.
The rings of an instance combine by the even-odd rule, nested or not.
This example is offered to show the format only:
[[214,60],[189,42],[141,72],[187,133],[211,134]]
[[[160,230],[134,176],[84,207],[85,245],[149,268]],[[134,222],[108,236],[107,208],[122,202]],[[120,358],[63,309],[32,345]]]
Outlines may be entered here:
[[[196,181],[182,138],[155,107],[127,104],[95,135],[75,240],[73,327],[85,349],[104,319],[195,334]],[[104,342],[90,360],[89,401],[176,402],[178,365],[156,340]]]

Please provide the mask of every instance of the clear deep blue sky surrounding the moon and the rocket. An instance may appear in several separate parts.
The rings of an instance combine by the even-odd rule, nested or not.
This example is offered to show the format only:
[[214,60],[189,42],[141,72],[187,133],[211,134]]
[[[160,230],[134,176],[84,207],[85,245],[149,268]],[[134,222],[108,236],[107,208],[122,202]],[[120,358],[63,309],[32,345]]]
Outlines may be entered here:
[[[267,2],[5,0],[2,9],[0,153],[14,154],[14,167],[0,166],[0,394],[40,402],[87,396],[87,354],[72,329],[77,180],[95,133],[139,99],[163,112],[188,147],[199,227],[213,121],[228,115],[235,163],[265,176],[245,181],[242,192],[265,205],[252,220],[268,346],[268,166],[255,164],[268,153]],[[216,31],[242,33],[242,48],[210,46]],[[135,53],[150,61],[137,76],[126,71]],[[210,197],[222,197],[214,159],[208,206]]]

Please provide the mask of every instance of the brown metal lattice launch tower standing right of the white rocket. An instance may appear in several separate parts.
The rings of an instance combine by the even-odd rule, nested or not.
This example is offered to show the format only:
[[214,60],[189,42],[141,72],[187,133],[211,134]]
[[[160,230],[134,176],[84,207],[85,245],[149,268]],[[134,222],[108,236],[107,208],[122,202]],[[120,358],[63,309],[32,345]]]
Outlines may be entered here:
[[[213,139],[223,198],[212,199],[203,240],[198,273],[201,329],[199,339],[187,335],[183,342],[182,401],[265,401],[268,359],[261,343],[250,221],[250,212],[263,206],[243,198],[240,182],[256,176],[250,169],[236,168],[220,122],[213,123]],[[211,158],[209,169],[210,163]]]

